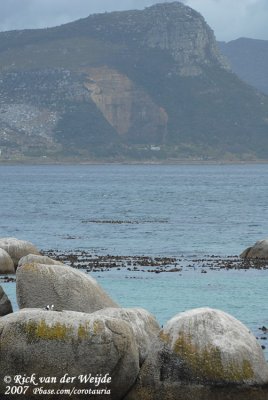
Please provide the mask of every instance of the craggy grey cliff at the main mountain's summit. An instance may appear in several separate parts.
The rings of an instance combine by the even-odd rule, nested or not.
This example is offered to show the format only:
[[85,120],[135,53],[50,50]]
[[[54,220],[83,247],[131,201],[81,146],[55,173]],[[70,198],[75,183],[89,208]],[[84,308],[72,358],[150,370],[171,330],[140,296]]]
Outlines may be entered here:
[[199,13],[174,2],[158,4],[146,14],[151,22],[143,44],[170,52],[180,75],[199,75],[207,65],[227,68],[213,31]]

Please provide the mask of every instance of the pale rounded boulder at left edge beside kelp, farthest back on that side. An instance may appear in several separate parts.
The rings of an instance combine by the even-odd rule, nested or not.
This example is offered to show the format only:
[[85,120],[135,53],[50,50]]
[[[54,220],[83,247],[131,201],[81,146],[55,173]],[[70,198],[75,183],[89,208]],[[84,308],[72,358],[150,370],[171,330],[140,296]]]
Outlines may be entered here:
[[27,256],[27,254],[40,254],[32,243],[16,238],[1,238],[0,248],[10,255],[15,267],[18,265],[19,260]]

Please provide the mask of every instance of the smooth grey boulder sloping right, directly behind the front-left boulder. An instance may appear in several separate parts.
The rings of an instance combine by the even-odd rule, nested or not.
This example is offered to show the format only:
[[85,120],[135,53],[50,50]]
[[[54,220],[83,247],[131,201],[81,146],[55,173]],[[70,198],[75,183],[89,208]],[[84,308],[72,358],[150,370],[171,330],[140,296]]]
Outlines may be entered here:
[[19,308],[44,308],[92,313],[118,307],[91,276],[65,265],[24,264],[17,269]]

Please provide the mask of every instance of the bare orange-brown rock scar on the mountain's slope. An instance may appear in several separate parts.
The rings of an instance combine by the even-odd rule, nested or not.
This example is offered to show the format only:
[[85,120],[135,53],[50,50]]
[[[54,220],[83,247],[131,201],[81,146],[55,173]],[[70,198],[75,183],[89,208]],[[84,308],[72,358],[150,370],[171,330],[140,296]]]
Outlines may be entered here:
[[168,116],[125,75],[108,67],[90,68],[85,87],[107,122],[136,143],[164,143]]

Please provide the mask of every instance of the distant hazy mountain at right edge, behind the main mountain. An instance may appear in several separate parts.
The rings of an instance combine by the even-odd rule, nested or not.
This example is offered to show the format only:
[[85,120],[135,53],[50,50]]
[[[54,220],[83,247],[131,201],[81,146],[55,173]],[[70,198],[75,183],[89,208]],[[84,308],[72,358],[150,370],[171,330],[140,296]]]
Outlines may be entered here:
[[268,40],[240,38],[218,45],[233,72],[268,95]]

